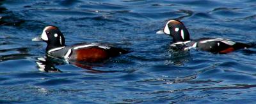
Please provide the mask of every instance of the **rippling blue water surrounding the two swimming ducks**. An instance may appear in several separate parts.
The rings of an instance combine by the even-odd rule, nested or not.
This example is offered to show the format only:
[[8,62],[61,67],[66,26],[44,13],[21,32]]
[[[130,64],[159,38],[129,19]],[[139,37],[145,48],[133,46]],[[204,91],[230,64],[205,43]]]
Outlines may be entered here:
[[[256,49],[227,55],[175,53],[157,35],[180,19],[191,39],[221,37],[255,42],[256,1],[223,0],[2,0],[0,103],[253,103]],[[47,58],[33,42],[56,25],[67,45],[100,42],[131,49],[87,70]],[[96,70],[96,71],[95,71]]]

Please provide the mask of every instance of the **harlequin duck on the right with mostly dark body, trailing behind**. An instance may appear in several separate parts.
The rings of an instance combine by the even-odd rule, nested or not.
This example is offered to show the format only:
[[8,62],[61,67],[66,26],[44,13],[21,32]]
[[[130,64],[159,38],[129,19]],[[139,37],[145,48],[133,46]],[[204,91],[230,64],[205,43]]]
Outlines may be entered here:
[[255,44],[244,44],[241,42],[234,42],[230,39],[221,38],[201,38],[191,40],[189,32],[185,25],[179,20],[169,20],[163,30],[159,30],[157,34],[168,34],[173,37],[172,48],[188,50],[191,48],[211,53],[230,53],[237,49],[246,49],[255,46]]

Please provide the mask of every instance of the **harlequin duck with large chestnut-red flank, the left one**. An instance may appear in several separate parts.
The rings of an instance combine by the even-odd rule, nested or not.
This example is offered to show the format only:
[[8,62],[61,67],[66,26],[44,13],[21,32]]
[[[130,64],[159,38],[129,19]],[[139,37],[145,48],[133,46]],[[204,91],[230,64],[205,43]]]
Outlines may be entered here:
[[32,41],[47,42],[46,53],[49,56],[76,62],[102,62],[110,57],[129,53],[129,51],[121,48],[97,43],[65,46],[65,38],[55,26],[45,27],[42,35],[32,39]]

